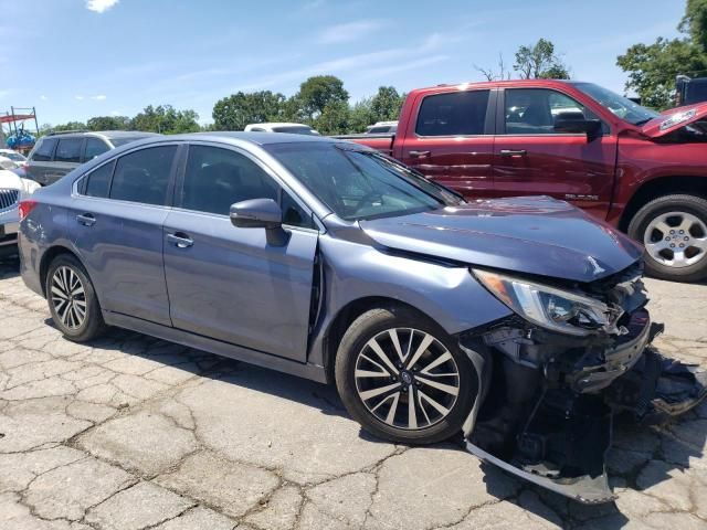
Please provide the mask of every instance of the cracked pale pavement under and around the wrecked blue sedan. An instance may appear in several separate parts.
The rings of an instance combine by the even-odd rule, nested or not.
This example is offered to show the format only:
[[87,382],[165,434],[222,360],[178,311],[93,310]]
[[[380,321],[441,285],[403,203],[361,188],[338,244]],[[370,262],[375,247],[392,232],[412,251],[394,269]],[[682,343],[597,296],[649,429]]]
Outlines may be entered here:
[[[647,282],[666,354],[707,367],[707,286]],[[458,447],[374,439],[334,389],[119,329],[75,344],[0,261],[0,528],[707,529],[707,404],[620,426],[615,504]]]

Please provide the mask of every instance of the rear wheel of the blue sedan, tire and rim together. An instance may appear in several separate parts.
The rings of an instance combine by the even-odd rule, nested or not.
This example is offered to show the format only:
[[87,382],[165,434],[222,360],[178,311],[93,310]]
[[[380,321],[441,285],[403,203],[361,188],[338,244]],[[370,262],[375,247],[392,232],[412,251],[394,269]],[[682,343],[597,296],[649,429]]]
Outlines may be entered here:
[[86,342],[105,331],[96,292],[86,269],[74,256],[62,254],[52,261],[46,272],[45,293],[54,325],[67,339]]

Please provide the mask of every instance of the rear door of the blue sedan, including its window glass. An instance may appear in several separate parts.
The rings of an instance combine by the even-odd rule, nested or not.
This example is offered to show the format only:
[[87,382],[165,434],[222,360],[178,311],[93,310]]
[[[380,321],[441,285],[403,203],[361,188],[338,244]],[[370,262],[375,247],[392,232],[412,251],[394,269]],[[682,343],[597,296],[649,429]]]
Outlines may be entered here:
[[72,198],[72,239],[104,310],[170,326],[162,223],[178,145],[130,151],[84,177]]

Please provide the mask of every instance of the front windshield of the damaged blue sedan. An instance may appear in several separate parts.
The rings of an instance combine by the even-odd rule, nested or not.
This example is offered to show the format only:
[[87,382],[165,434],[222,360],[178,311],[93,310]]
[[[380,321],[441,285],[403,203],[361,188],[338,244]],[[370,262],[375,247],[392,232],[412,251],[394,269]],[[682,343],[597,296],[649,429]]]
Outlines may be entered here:
[[266,149],[339,218],[405,215],[458,204],[451,192],[376,151],[337,144],[274,144]]

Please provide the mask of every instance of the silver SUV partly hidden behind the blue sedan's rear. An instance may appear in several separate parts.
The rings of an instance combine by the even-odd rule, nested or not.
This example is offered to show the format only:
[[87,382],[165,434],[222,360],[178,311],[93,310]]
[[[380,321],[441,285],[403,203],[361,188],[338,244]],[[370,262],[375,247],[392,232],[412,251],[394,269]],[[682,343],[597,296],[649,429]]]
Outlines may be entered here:
[[51,132],[40,138],[30,152],[27,176],[42,186],[49,186],[83,162],[148,136],[159,135],[136,130]]

